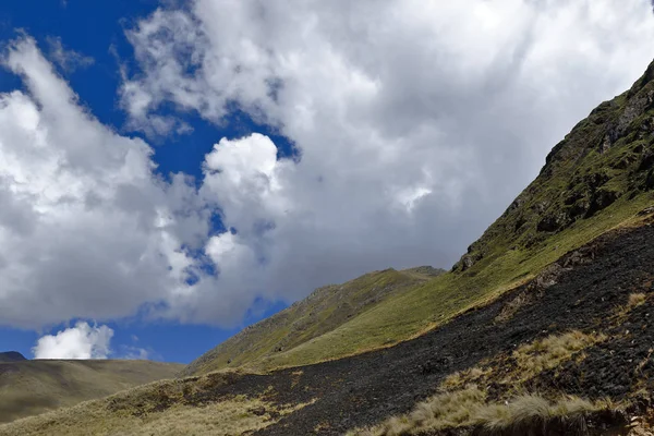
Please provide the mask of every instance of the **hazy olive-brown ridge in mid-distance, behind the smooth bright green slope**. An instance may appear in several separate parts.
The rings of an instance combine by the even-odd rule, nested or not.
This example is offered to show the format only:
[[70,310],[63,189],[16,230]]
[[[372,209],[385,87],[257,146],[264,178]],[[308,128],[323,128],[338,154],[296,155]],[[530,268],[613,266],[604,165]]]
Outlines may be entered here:
[[401,294],[443,272],[445,271],[426,266],[402,271],[386,269],[366,274],[340,286],[319,288],[306,299],[247,327],[202,355],[182,374],[206,374],[243,364],[252,366],[262,359],[325,335],[386,298]]

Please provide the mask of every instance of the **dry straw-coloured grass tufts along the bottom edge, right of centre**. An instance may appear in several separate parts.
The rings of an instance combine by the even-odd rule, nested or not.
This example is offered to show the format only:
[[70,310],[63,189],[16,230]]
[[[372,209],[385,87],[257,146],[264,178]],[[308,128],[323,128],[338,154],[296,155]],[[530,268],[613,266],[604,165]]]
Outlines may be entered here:
[[417,404],[405,415],[354,429],[348,436],[405,436],[446,429],[479,428],[488,435],[531,434],[549,426],[582,426],[586,416],[614,410],[609,401],[591,402],[577,397],[548,400],[535,395],[514,397],[506,403],[488,403],[476,387],[440,393]]

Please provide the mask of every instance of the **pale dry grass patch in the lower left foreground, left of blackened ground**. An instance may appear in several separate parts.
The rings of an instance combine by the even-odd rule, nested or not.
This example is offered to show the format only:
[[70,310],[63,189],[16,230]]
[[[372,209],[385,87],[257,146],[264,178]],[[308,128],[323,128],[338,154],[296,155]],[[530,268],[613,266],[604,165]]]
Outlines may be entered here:
[[215,388],[234,377],[239,374],[215,373],[155,382],[105,399],[0,425],[0,436],[242,435],[265,428],[306,405],[283,407],[245,396],[207,400]]

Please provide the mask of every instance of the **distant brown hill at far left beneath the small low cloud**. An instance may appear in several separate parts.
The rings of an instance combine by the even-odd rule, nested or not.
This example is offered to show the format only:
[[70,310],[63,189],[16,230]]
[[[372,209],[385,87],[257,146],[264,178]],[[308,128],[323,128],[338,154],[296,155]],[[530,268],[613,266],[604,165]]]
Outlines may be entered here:
[[171,378],[182,367],[149,361],[0,363],[0,423]]

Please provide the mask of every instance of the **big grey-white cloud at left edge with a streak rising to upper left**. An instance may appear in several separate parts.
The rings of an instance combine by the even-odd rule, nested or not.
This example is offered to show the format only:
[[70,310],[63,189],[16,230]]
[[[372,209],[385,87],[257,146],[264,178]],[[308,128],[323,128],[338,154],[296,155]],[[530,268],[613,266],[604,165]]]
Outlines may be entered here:
[[207,233],[194,187],[158,180],[150,147],[84,110],[32,39],[3,63],[27,90],[0,94],[0,324],[168,304],[193,263],[182,244]]

